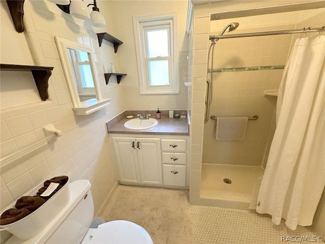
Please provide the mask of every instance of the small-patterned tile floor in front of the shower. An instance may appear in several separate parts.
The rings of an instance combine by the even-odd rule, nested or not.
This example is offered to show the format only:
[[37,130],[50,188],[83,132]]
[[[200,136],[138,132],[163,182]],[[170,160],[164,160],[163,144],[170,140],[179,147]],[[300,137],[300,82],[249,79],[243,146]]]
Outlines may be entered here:
[[310,238],[303,243],[323,243],[311,227],[298,226],[292,231],[284,222],[276,226],[270,216],[253,211],[192,205],[191,212],[196,244],[277,244],[291,236]]

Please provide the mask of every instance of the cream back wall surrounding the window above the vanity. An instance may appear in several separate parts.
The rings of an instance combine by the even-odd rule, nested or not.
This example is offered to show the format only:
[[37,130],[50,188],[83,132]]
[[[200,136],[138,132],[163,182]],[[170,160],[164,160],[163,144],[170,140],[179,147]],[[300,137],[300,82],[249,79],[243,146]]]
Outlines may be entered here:
[[[124,89],[127,109],[187,109],[187,88],[184,85],[187,81],[188,38],[185,34],[187,1],[110,1],[110,5],[114,36],[123,41],[115,54],[118,56],[115,71],[127,74],[120,83]],[[179,94],[140,95],[132,17],[173,12],[177,12]]]

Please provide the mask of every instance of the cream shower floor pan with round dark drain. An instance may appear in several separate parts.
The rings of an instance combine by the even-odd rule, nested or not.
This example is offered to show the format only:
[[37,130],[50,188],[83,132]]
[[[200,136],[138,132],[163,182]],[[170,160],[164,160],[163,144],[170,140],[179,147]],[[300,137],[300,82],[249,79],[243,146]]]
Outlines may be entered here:
[[255,183],[263,174],[259,166],[202,164],[201,199],[211,206],[248,209]]

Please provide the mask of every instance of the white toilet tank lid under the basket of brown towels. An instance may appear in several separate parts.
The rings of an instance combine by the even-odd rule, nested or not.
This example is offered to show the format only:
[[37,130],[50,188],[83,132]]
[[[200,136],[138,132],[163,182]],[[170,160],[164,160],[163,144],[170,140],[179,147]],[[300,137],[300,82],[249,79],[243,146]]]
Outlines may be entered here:
[[48,226],[38,235],[28,239],[21,240],[16,236],[11,236],[5,244],[43,244],[51,236],[51,234],[58,228],[64,219],[69,215],[72,209],[78,204],[83,196],[91,187],[89,180],[78,179],[69,184],[70,199],[69,202],[62,208],[59,214],[48,224]]

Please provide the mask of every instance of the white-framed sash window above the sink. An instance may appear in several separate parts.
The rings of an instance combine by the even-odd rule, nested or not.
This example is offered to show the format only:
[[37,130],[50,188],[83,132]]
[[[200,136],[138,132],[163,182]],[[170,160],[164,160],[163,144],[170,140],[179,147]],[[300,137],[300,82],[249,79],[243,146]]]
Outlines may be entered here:
[[178,93],[176,14],[133,20],[140,94]]

